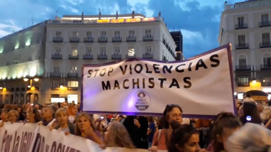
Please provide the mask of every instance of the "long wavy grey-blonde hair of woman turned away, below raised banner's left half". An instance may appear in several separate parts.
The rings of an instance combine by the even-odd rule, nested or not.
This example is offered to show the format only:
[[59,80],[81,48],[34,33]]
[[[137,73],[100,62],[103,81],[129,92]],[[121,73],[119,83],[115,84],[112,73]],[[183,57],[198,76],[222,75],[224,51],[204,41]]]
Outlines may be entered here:
[[123,124],[112,122],[105,133],[106,147],[135,148]]

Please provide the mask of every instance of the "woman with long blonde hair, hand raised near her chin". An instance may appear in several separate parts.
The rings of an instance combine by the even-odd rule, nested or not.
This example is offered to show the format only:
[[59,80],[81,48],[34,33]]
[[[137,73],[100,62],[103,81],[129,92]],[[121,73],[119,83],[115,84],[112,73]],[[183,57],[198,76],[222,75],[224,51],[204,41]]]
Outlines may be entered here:
[[96,131],[95,122],[93,122],[88,113],[82,112],[76,118],[75,135],[87,138],[89,140],[103,145],[101,134]]

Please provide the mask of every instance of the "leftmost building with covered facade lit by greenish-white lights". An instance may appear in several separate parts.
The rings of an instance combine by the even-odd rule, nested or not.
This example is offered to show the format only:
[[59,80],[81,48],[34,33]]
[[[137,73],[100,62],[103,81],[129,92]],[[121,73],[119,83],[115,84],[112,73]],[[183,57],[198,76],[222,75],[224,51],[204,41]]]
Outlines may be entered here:
[[0,39],[0,103],[37,103],[42,98],[46,23]]

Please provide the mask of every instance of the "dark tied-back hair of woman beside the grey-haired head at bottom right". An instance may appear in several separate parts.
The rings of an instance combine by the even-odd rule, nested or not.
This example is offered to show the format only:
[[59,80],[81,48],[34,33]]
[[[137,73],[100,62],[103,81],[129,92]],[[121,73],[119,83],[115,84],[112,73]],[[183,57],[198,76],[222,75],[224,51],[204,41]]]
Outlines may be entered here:
[[241,126],[241,123],[238,119],[229,112],[222,112],[219,114],[217,120],[213,123],[213,147],[214,152],[219,152],[224,150],[223,143],[219,142],[217,135],[221,136],[224,128],[238,128]]

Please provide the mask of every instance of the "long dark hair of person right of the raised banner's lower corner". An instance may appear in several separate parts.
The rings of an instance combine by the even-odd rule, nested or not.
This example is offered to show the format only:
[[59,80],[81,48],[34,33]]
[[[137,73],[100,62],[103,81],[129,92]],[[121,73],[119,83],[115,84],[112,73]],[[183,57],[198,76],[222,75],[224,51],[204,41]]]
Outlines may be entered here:
[[[240,117],[240,121],[242,122],[242,124],[245,124],[247,122],[254,123],[254,124],[262,123],[259,111],[257,109],[257,106],[254,103],[244,102],[243,111],[244,111],[244,116]],[[246,116],[251,116],[251,120],[247,121]]]

